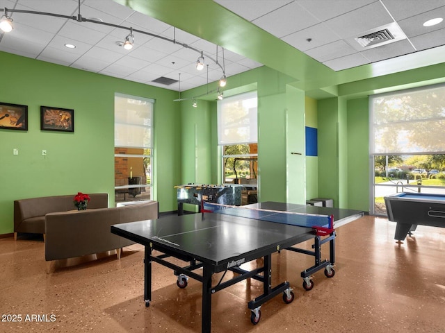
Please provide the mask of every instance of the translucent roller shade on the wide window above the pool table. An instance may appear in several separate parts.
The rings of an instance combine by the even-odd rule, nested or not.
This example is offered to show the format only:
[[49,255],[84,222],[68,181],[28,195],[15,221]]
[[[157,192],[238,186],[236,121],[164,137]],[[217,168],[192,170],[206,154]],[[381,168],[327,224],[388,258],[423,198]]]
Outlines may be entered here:
[[445,153],[445,85],[370,96],[371,155]]

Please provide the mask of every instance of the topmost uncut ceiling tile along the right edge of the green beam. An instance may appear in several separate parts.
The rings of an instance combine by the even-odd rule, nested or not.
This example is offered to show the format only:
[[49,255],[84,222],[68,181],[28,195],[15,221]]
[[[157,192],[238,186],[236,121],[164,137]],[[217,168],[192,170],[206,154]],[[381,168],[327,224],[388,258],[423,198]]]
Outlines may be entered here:
[[318,23],[318,20],[298,3],[291,2],[254,19],[252,23],[277,37],[284,37],[308,26],[313,26]]

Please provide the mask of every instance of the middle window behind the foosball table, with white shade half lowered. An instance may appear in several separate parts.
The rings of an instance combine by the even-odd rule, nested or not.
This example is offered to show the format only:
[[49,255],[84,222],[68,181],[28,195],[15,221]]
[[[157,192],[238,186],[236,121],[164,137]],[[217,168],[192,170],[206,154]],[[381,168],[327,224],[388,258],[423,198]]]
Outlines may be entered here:
[[[224,184],[242,184],[246,189],[257,190],[257,113],[257,92],[218,101],[218,144],[223,151]],[[255,192],[251,198],[256,197]]]

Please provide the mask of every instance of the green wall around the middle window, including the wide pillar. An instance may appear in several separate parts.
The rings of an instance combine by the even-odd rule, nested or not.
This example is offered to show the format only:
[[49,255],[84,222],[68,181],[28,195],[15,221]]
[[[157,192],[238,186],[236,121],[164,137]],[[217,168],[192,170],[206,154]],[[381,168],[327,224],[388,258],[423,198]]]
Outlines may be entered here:
[[[257,89],[261,201],[304,202],[305,187],[301,184],[305,183],[305,96],[302,90],[292,87],[292,83],[293,78],[289,76],[259,67],[231,76],[224,89],[224,96]],[[209,90],[215,88],[216,83],[211,83]],[[181,98],[191,99],[181,102],[181,164],[184,168],[181,179],[184,183],[221,182],[218,178],[220,154],[216,149],[216,95],[205,95],[205,89],[197,87],[181,95]],[[193,108],[193,96],[200,94],[205,96],[197,99],[198,106]],[[194,139],[194,131],[197,131],[197,139]],[[291,155],[291,151],[302,152],[302,155]]]

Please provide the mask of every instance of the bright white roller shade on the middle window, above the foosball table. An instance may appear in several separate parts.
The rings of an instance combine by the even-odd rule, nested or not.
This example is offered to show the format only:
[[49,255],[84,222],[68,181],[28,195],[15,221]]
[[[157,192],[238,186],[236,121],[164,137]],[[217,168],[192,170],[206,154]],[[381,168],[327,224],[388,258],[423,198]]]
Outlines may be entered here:
[[257,92],[218,101],[218,144],[258,142]]

